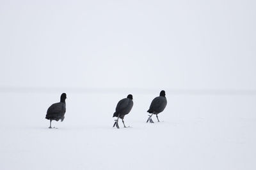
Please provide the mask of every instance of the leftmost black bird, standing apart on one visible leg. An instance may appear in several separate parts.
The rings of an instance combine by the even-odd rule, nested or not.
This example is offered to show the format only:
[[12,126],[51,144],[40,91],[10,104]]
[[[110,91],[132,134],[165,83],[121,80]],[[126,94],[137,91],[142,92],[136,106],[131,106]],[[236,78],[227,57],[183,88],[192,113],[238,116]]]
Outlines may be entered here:
[[65,93],[61,94],[60,96],[60,102],[52,104],[46,114],[46,119],[50,120],[50,127],[52,128],[52,120],[59,121],[61,119],[61,122],[64,120],[64,115],[66,112],[66,102],[65,99],[67,99],[67,95]]

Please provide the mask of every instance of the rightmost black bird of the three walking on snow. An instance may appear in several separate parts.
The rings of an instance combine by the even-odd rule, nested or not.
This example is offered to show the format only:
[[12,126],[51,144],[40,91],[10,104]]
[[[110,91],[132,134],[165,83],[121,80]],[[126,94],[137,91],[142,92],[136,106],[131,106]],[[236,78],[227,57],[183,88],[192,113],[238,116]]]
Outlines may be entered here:
[[150,104],[150,108],[149,110],[147,111],[148,113],[152,113],[151,115],[148,115],[148,120],[147,122],[149,121],[150,123],[154,123],[153,120],[152,120],[152,115],[156,115],[156,118],[159,122],[159,119],[158,119],[158,114],[161,113],[164,108],[166,107],[166,104],[167,104],[167,100],[166,100],[166,97],[165,97],[165,92],[164,90],[162,90],[160,92],[160,96],[159,97],[156,97],[152,103]]

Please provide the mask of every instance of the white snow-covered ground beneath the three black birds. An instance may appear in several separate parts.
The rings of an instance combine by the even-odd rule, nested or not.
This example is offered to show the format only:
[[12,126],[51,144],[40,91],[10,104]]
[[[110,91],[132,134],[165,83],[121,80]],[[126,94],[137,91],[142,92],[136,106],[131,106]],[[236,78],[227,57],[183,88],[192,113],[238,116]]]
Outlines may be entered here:
[[255,95],[166,91],[162,122],[146,124],[159,92],[131,92],[131,127],[115,129],[127,93],[67,92],[65,120],[48,129],[45,113],[60,94],[1,92],[0,169],[256,169]]

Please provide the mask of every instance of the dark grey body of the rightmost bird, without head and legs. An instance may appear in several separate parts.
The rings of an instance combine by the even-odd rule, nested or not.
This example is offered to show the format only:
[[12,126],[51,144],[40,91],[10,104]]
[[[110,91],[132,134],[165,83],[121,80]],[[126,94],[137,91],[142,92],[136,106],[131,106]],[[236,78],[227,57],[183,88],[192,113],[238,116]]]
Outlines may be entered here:
[[166,97],[159,96],[156,97],[152,103],[150,104],[150,108],[148,110],[149,113],[161,113],[166,107],[167,100]]

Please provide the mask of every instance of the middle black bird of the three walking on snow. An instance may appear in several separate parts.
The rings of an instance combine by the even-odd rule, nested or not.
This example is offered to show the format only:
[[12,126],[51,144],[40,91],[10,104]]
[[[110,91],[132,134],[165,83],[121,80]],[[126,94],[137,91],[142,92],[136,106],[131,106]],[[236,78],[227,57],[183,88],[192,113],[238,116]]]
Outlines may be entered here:
[[[113,117],[117,117],[113,127],[116,126],[119,129],[118,118],[121,118],[124,124],[124,116],[127,115],[132,110],[132,106],[133,106],[133,101],[132,101],[131,94],[129,94],[127,98],[124,98],[118,102],[116,106],[116,112],[113,115]],[[125,124],[124,124],[124,127],[126,127]]]

